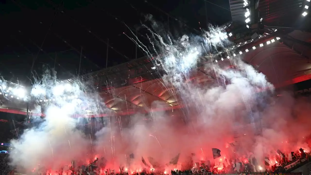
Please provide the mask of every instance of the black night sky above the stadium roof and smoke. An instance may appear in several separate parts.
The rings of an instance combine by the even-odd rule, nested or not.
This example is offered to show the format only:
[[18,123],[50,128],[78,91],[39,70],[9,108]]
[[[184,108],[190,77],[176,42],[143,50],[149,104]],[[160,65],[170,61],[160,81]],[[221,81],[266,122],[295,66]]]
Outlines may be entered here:
[[79,73],[81,47],[80,74],[104,69],[107,43],[108,67],[136,58],[134,43],[123,34],[133,36],[128,27],[148,43],[141,27],[146,15],[179,36],[200,34],[207,20],[230,21],[229,9],[228,0],[1,0],[0,73],[21,84],[29,83],[30,70],[40,75],[55,68],[59,78],[71,78]]

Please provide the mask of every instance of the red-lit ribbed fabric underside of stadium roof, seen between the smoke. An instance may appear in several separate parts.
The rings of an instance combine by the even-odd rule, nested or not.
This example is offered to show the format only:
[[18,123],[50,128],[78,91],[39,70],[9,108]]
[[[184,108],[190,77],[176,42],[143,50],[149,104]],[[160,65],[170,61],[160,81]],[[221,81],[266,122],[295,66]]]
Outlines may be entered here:
[[[276,88],[311,79],[311,63],[309,62],[311,51],[307,49],[309,46],[298,42],[304,41],[304,44],[309,43],[311,34],[293,31],[289,35],[297,41],[286,39],[286,37],[281,40],[276,40],[275,37],[266,37],[265,40],[253,43],[256,46],[255,50],[250,49],[249,52],[244,51],[242,54],[243,60],[253,65],[259,72],[265,74],[268,81],[274,84]],[[302,38],[304,40],[299,40]],[[274,39],[274,42],[272,42],[272,39]],[[270,44],[267,44],[267,41],[270,41]],[[260,47],[260,44],[263,44],[263,46]],[[220,60],[217,64],[223,68],[230,67],[230,60]],[[205,72],[202,67],[197,67],[190,73],[188,81],[197,85],[207,86],[216,82],[213,77],[213,73]],[[136,80],[136,82],[132,81],[131,83],[123,84],[123,86],[100,90],[105,106],[111,110],[111,112],[100,116],[123,116],[137,112],[150,112],[150,110],[163,111],[183,107],[183,102],[178,94],[175,93],[174,87],[165,85],[161,78],[154,77],[153,79],[142,81],[142,78],[138,77]],[[15,106],[10,105],[12,104],[3,104],[2,108],[8,108],[1,111],[21,108],[22,102],[14,104]],[[24,104],[24,113],[25,110],[26,106]]]

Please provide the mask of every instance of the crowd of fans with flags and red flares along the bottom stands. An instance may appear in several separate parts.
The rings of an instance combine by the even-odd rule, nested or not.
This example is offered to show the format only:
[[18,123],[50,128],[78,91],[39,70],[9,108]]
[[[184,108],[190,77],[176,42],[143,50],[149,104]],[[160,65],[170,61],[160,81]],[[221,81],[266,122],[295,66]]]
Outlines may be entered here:
[[[284,154],[282,154],[284,156]],[[107,174],[115,174],[115,175],[164,175],[164,174],[171,174],[171,175],[208,175],[209,172],[212,174],[236,174],[236,173],[253,173],[253,172],[286,172],[284,166],[295,162],[298,159],[304,159],[304,158],[309,158],[309,154],[305,154],[304,152],[301,153],[300,151],[297,151],[296,153],[292,153],[290,158],[289,156],[279,156],[276,158],[275,163],[269,164],[269,166],[266,164],[265,167],[260,169],[255,168],[254,164],[248,159],[249,161],[235,161],[234,163],[227,164],[226,166],[224,165],[223,167],[219,168],[219,166],[214,166],[211,167],[211,165],[205,165],[205,163],[201,164],[201,167],[197,168],[192,168],[189,170],[172,170],[171,172],[160,172],[160,171],[154,171],[152,170],[147,170],[144,169],[142,172],[139,173],[130,173],[127,171],[124,171],[120,169],[118,172],[116,171],[111,171],[111,170],[102,170],[100,169],[100,165],[97,165],[98,163],[96,159],[94,162],[90,163],[89,165],[84,165],[82,167],[77,167],[77,168],[69,168],[69,171],[59,171],[56,172],[56,174],[59,175],[107,175]],[[239,164],[237,166],[237,164]],[[99,167],[98,167],[99,166]],[[76,170],[74,170],[76,169]],[[35,174],[39,175],[48,175],[49,173],[45,174],[42,172],[35,172]],[[0,154],[0,175],[9,175],[10,174],[10,169],[8,166],[8,154]],[[49,174],[50,175],[50,174]]]

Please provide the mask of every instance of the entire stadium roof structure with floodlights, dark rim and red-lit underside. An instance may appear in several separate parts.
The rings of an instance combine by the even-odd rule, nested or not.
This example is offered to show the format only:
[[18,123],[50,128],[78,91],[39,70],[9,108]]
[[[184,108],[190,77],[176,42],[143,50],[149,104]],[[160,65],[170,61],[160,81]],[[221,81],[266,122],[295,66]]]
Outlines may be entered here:
[[[225,37],[232,43],[225,49],[214,48],[212,53],[201,55],[197,69],[192,70],[187,81],[202,86],[215,83],[215,75],[206,72],[204,64],[218,64],[229,69],[232,67],[229,58],[235,56],[241,56],[246,63],[265,74],[277,88],[310,79],[311,67],[308,60],[311,53],[308,46],[311,34],[294,30],[297,26],[301,28],[307,25],[302,24],[306,23],[303,20],[308,15],[308,7],[307,0],[286,0],[281,4],[278,1],[230,0],[232,21],[219,28],[227,32]],[[295,19],[299,19],[299,24],[290,22]],[[280,26],[277,21],[284,22]],[[100,116],[147,112],[146,107],[152,107],[154,102],[157,102],[157,107],[152,109],[155,111],[183,107],[178,94],[174,94],[174,87],[164,85],[160,78],[163,72],[152,69],[152,61],[153,58],[144,57],[82,77],[94,82],[102,101],[111,111]],[[66,86],[74,81],[68,79],[59,83]],[[7,84],[8,87],[2,87],[5,93],[2,94],[1,111],[26,114],[29,108],[27,102],[31,103],[28,105],[35,106],[55,100],[53,97],[27,98],[28,87]],[[32,93],[44,92],[37,88]],[[63,98],[77,97],[68,94]],[[92,114],[92,111],[87,113]]]

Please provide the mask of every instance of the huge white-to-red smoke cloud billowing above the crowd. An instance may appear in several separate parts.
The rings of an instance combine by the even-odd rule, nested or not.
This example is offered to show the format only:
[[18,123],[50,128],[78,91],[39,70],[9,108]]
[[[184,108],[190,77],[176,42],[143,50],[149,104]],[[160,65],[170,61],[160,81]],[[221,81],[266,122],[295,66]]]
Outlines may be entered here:
[[[59,83],[54,73],[47,72],[34,83],[31,94],[37,99],[53,100],[43,106],[44,121],[34,118],[40,124],[12,141],[12,165],[33,170],[40,164],[55,172],[72,161],[81,165],[97,157],[104,158],[100,162],[105,169],[124,166],[137,172],[147,168],[143,157],[156,170],[169,171],[186,167],[189,157],[194,162],[213,162],[212,148],[220,149],[223,158],[232,160],[252,153],[261,166],[265,156],[276,156],[277,149],[290,152],[304,147],[309,151],[308,99],[295,99],[288,92],[276,96],[266,76],[241,58],[230,58],[230,69],[212,61],[204,63],[204,72],[213,78],[208,83],[194,81],[198,57],[209,53],[212,46],[229,42],[224,31],[212,28],[205,36],[183,35],[173,40],[152,27],[148,30],[155,50],[140,46],[147,55],[157,51],[154,69],[164,70],[163,83],[179,99],[182,109],[89,118],[87,111],[109,111],[100,103],[104,99],[88,93],[89,89],[79,81]],[[79,117],[74,117],[76,114]],[[166,165],[178,154],[176,166]]]

